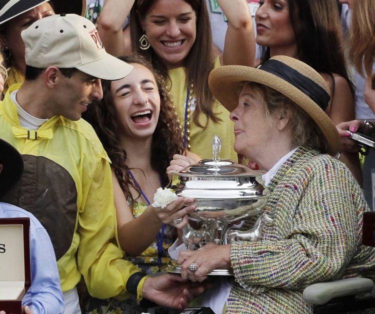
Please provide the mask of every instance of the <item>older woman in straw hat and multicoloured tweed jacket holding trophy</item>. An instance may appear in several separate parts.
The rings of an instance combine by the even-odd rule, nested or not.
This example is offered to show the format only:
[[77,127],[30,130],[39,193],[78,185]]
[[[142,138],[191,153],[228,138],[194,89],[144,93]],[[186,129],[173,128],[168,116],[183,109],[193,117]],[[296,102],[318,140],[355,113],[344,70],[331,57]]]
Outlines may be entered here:
[[231,112],[234,150],[267,171],[270,196],[263,210],[273,222],[257,242],[180,252],[181,276],[200,282],[214,269],[233,271],[234,280],[210,303],[219,306],[215,313],[224,307],[226,313],[312,313],[302,299],[306,286],[358,276],[375,265],[373,249],[361,246],[368,210],[362,191],[333,157],[339,136],[324,113],[329,89],[311,67],[287,56],[258,68],[214,69],[209,86]]

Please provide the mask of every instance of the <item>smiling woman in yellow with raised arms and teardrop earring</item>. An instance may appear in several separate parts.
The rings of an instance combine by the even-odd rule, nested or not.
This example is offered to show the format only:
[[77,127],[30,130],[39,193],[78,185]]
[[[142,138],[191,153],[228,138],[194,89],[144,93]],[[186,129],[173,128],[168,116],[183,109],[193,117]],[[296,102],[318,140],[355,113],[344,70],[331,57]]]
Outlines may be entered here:
[[[227,110],[212,96],[208,74],[223,64],[253,66],[255,42],[246,0],[217,0],[228,18],[222,55],[212,53],[206,1],[106,0],[98,20],[105,49],[125,53],[122,22],[130,11],[133,53],[143,55],[165,79],[183,132],[183,146],[211,158],[217,134],[225,147],[221,157],[237,160]],[[130,10],[131,8],[131,10]]]

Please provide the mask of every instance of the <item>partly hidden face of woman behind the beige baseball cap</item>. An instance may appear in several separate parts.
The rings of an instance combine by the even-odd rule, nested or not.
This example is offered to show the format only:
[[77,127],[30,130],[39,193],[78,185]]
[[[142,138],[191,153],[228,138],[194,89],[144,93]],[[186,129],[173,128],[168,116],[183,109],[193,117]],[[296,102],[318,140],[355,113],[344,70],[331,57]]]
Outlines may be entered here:
[[11,63],[21,73],[25,71],[24,61],[24,43],[21,37],[21,31],[30,26],[34,21],[53,15],[54,11],[49,3],[42,3],[27,12],[24,12],[6,22],[6,28],[1,34],[2,39],[6,41],[11,54]]

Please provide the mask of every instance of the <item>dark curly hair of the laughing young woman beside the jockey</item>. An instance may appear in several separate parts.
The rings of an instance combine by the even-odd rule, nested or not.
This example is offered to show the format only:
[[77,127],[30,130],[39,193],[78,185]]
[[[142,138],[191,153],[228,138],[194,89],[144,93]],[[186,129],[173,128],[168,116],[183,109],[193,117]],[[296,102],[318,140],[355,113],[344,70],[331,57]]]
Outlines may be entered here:
[[[174,154],[182,154],[182,131],[177,122],[175,109],[165,87],[163,78],[158,74],[143,57],[131,55],[120,56],[120,60],[127,63],[138,63],[151,71],[155,77],[157,89],[160,96],[160,113],[155,131],[152,135],[151,144],[151,167],[160,174],[161,185],[168,184],[168,176],[165,173],[169,161]],[[129,167],[126,165],[126,151],[121,147],[118,139],[119,123],[117,112],[113,106],[112,93],[110,92],[108,80],[101,80],[103,88],[103,98],[94,101],[87,107],[87,111],[82,117],[94,128],[110,160],[111,167],[117,177],[124,195],[131,202],[134,202],[129,187],[138,190],[131,180]],[[138,195],[139,196],[139,195]]]

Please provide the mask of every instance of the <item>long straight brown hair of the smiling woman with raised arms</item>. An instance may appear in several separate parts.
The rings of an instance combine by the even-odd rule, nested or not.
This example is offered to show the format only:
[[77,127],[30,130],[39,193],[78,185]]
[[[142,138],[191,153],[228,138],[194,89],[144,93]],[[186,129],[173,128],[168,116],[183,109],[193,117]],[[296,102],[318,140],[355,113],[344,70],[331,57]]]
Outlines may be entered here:
[[[143,34],[140,20],[143,20],[148,11],[152,9],[157,0],[137,0],[130,10],[130,39],[134,53],[143,55],[153,67],[160,71],[164,78],[168,77],[168,71],[164,62],[150,47],[147,50],[139,48],[139,38]],[[219,122],[212,111],[213,96],[208,87],[208,74],[213,68],[212,63],[212,35],[209,23],[208,9],[205,0],[184,0],[190,4],[196,14],[196,38],[186,57],[187,85],[194,84],[196,108],[192,114],[196,125],[203,127],[199,121],[199,113],[205,114],[214,122]]]

